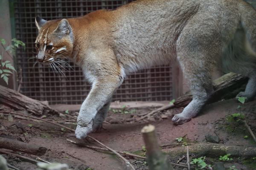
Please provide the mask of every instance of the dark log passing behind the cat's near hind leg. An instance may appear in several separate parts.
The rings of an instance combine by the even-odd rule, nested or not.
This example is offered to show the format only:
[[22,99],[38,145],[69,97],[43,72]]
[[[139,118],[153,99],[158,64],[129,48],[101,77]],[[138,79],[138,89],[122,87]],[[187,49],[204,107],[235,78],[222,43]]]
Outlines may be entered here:
[[[241,76],[241,74],[228,73],[218,79],[215,79],[213,82],[214,95],[209,100],[208,104],[222,99],[231,99],[236,97],[240,91],[244,91],[248,78]],[[174,102],[174,105],[176,108],[186,107],[191,101],[192,94],[188,91],[186,94],[179,97]]]

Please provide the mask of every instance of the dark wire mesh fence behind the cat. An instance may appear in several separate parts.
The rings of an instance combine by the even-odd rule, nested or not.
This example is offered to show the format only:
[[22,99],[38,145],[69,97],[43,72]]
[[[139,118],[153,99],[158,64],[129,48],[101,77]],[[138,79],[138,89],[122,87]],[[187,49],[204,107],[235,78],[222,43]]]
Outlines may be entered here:
[[[53,73],[49,66],[35,64],[35,39],[38,30],[35,17],[45,20],[81,17],[99,9],[114,9],[133,0],[14,0],[15,35],[26,43],[26,50],[18,49],[17,66],[22,69],[23,84],[20,93],[49,104],[81,104],[90,91],[81,69],[68,62],[58,68],[65,74]],[[58,69],[57,68],[57,69]],[[174,97],[171,65],[154,67],[130,74],[113,95],[120,101],[161,101]]]

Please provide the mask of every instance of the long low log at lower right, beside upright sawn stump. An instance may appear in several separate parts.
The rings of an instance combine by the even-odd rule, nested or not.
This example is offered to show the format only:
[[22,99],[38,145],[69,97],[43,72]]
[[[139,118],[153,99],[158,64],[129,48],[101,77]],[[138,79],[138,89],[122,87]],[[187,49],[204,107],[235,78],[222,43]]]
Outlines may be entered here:
[[[170,149],[163,149],[163,153],[170,156],[186,155],[186,147],[174,147]],[[256,147],[240,147],[228,146],[224,144],[215,143],[197,143],[189,146],[189,153],[199,154],[201,156],[209,156],[211,158],[231,154],[230,157],[240,157],[242,159],[250,159],[256,157]]]

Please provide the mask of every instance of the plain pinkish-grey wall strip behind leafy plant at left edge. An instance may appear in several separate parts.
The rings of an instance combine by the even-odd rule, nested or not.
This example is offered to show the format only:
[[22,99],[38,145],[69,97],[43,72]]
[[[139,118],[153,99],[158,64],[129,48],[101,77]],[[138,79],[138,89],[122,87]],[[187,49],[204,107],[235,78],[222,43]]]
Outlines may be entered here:
[[[10,23],[10,12],[9,12],[9,1],[8,0],[0,0],[0,38],[6,40],[5,47],[8,46],[8,43],[12,40],[12,31],[11,31],[11,23]],[[3,52],[3,61],[9,60],[10,63],[13,65],[12,58],[6,54],[5,50],[3,49],[2,45],[0,45],[0,55]],[[0,65],[0,69],[2,69],[2,65]],[[13,71],[13,74],[9,76],[8,85],[0,78],[0,85],[5,87],[16,89],[15,83],[16,72]]]

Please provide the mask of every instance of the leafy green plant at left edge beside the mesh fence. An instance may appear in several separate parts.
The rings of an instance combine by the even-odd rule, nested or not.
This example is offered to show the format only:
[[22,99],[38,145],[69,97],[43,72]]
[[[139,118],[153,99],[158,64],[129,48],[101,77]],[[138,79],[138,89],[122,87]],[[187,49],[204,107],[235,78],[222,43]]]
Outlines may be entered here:
[[[24,47],[25,50],[25,43],[17,40],[16,38],[12,39],[11,42],[14,42],[13,45],[9,45],[11,42],[9,42],[8,46],[5,48],[4,45],[6,45],[6,40],[0,38],[1,41],[1,45],[3,46],[5,52],[12,58],[12,56],[9,54],[9,52],[13,55],[16,56],[16,49],[19,45],[22,45]],[[8,52],[9,51],[9,52]],[[2,55],[0,55],[0,78],[3,78],[3,80],[6,82],[6,84],[8,85],[8,80],[9,80],[9,76],[12,74],[12,70],[16,72],[15,68],[12,66],[11,63],[9,63],[9,60],[6,60],[5,62],[3,62],[3,51],[2,51]]]

